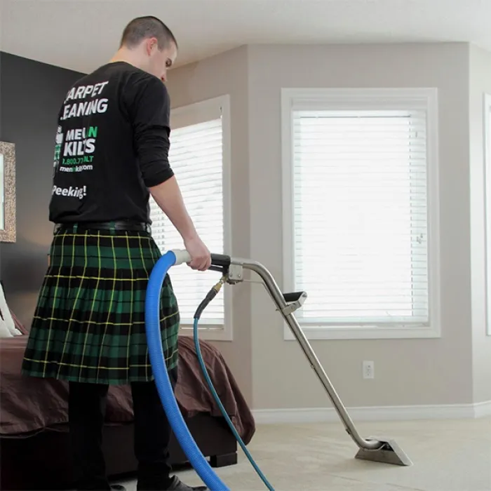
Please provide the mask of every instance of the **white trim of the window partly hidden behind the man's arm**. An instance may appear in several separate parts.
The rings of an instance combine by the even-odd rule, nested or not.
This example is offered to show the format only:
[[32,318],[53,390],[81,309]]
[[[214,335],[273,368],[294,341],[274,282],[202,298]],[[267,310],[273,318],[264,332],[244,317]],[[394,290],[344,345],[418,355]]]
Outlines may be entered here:
[[[220,95],[213,99],[195,102],[191,105],[176,107],[170,111],[170,126],[187,126],[200,121],[210,119],[210,114],[216,117],[220,114],[222,108],[222,176],[223,176],[223,230],[224,230],[224,254],[231,251],[231,122],[230,122],[230,96]],[[215,117],[215,116],[213,116]],[[174,121],[176,122],[174,124]],[[171,129],[172,131],[172,129]],[[172,137],[172,133],[171,133]],[[170,162],[172,166],[172,162]],[[185,203],[184,203],[185,204]],[[211,253],[215,251],[210,251]],[[172,274],[172,269],[169,271]],[[220,273],[217,273],[217,281],[220,279]],[[210,284],[210,288],[213,284]],[[233,341],[234,327],[232,325],[233,308],[232,292],[227,285],[222,287],[224,295],[224,325],[199,324],[199,338],[208,341]],[[179,299],[177,299],[179,302]],[[213,301],[212,301],[213,302]],[[198,305],[196,305],[196,308]],[[180,335],[193,336],[193,325],[182,324],[180,326]]]

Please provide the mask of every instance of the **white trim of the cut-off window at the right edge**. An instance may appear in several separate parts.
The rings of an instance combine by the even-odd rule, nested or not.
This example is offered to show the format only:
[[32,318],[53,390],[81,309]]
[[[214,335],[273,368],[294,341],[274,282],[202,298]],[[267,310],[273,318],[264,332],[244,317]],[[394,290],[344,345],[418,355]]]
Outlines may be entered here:
[[485,309],[486,309],[486,335],[491,336],[491,257],[488,250],[491,246],[491,189],[487,186],[487,180],[491,179],[491,93],[483,97],[483,155],[484,155],[484,199],[485,199]]

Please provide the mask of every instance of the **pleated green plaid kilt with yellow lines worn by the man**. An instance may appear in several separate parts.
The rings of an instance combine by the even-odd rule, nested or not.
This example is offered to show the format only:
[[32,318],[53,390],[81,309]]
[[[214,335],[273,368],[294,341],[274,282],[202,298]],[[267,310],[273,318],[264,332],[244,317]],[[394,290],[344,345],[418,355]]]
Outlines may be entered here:
[[[144,231],[56,231],[22,361],[22,373],[95,384],[153,379],[145,332],[149,274],[161,252]],[[177,366],[180,315],[166,276],[161,333]]]

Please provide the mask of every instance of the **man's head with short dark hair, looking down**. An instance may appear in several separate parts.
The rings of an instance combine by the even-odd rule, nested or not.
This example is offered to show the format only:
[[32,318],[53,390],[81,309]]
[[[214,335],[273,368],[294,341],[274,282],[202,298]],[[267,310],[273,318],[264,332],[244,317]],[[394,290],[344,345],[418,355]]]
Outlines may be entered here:
[[165,82],[167,69],[177,58],[177,41],[161,20],[147,15],[128,23],[119,51],[128,55],[134,65]]

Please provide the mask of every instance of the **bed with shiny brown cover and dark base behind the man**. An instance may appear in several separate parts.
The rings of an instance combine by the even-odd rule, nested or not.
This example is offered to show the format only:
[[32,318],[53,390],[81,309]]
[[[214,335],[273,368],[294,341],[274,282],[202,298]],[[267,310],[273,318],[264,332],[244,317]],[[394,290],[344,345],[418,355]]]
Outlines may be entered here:
[[[20,375],[26,342],[25,333],[0,339],[0,488],[70,489],[73,480],[67,433],[67,384]],[[224,408],[248,444],[255,433],[255,422],[234,376],[212,344],[201,341],[201,352]],[[212,466],[236,464],[236,440],[201,374],[191,338],[180,337],[179,356],[175,396],[191,434]],[[112,480],[135,473],[129,386],[109,389],[103,447]],[[173,466],[187,465],[175,437],[170,458]]]

